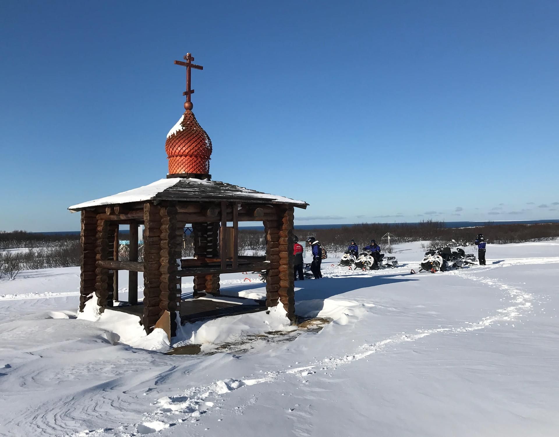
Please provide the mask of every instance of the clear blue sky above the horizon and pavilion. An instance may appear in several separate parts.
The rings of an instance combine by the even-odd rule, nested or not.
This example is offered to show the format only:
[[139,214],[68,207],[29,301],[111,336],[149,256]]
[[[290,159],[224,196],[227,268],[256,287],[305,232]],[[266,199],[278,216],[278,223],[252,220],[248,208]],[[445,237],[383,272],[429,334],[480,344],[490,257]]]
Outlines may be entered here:
[[551,1],[2,2],[0,229],[79,229],[69,205],[165,177],[187,51],[212,176],[306,200],[300,224],[558,218],[558,19]]

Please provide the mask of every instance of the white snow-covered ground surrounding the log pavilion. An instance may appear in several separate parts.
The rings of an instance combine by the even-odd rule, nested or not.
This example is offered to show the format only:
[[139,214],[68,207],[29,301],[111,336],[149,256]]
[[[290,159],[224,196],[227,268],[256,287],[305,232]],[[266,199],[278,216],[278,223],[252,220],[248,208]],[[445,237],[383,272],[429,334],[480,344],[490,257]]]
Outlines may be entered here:
[[[398,269],[330,260],[296,283],[297,313],[333,319],[320,332],[265,312],[200,322],[182,333],[199,355],[75,318],[77,268],[2,280],[0,435],[559,435],[559,242],[438,274],[409,274],[419,243],[397,250]],[[222,292],[262,297],[255,275],[228,276]]]

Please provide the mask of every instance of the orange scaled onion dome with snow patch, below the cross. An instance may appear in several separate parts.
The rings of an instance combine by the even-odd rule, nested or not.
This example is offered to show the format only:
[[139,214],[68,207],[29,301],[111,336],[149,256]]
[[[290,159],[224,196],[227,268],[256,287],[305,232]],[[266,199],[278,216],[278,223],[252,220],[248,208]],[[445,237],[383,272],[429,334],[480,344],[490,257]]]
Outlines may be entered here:
[[165,152],[169,159],[169,175],[190,173],[192,177],[209,177],[211,139],[190,109],[184,111],[167,134]]

